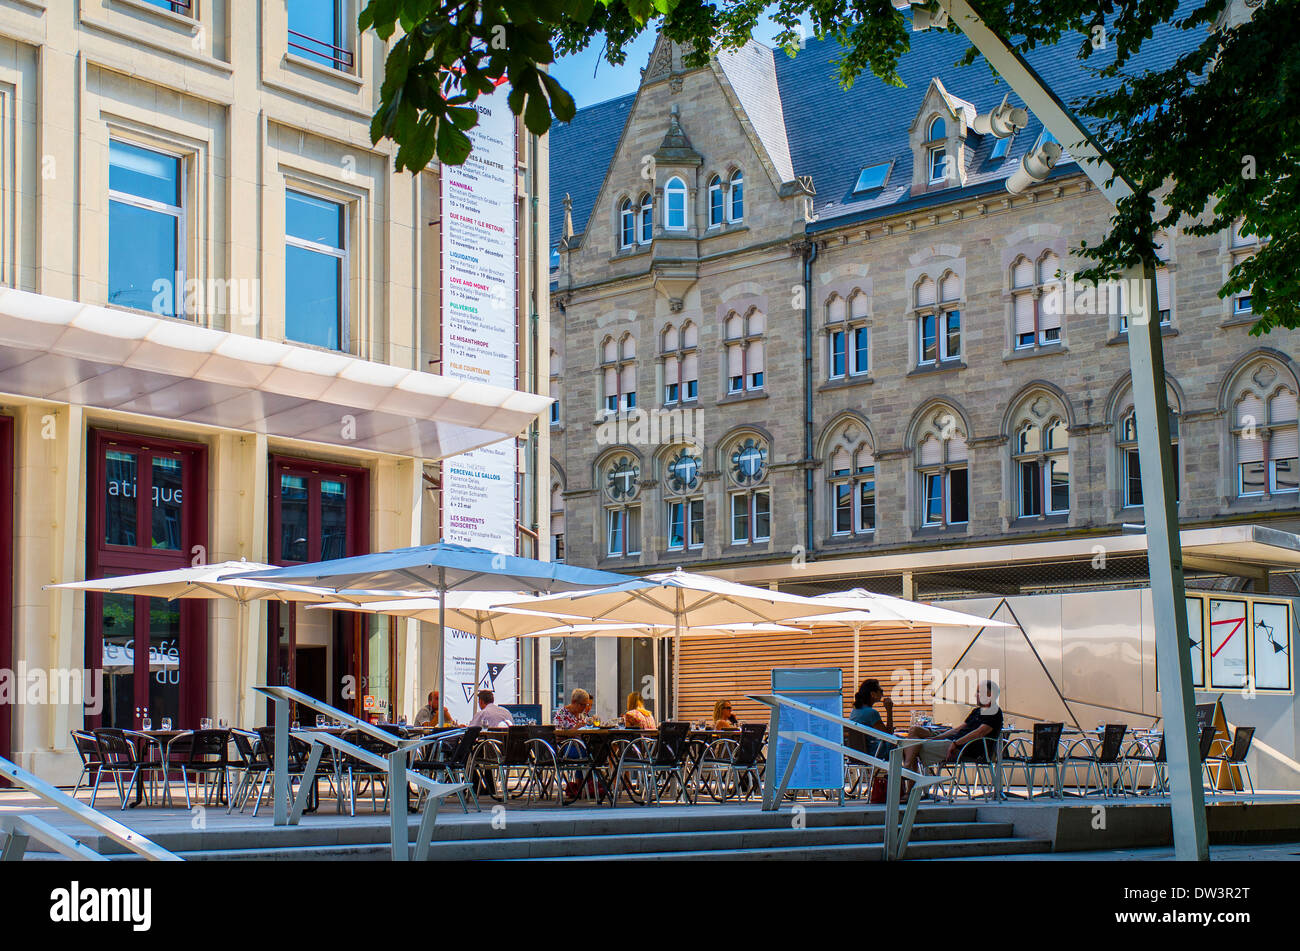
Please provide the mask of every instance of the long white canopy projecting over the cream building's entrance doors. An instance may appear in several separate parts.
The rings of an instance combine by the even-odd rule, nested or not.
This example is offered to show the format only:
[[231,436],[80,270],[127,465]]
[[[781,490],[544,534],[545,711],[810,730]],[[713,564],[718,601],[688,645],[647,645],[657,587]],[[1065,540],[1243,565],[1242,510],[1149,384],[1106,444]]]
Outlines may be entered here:
[[514,437],[551,403],[16,290],[0,290],[0,394],[430,460]]

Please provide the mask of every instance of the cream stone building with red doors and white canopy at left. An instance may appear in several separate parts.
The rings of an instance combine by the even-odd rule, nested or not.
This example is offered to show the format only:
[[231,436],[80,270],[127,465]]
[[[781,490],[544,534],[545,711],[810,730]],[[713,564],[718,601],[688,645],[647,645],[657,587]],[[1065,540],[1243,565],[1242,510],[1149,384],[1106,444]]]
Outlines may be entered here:
[[[413,716],[434,639],[259,604],[240,651],[229,602],[46,585],[437,540],[437,460],[516,434],[520,551],[547,547],[549,433],[508,409],[545,401],[439,375],[439,169],[370,143],[385,45],[358,12],[0,3],[0,668],[88,669],[99,695],[0,704],[0,755],[47,778],[75,778],[83,725],[263,722],[257,683]],[[516,390],[537,392],[547,158],[517,130]]]

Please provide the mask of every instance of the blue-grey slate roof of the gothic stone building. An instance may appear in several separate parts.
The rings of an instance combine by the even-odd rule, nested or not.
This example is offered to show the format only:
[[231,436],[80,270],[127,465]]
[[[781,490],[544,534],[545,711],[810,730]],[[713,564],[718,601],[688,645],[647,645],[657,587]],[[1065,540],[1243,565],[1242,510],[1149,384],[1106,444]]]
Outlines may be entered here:
[[[1184,8],[1193,5],[1183,4]],[[1141,64],[1145,68],[1165,68],[1201,38],[1200,31],[1162,25],[1147,42]],[[1041,47],[1024,55],[1067,105],[1078,105],[1097,91],[1098,81],[1092,70],[1109,64],[1114,55],[1112,47],[1080,62],[1076,55],[1082,43],[1082,36],[1071,34],[1054,47]],[[809,230],[819,231],[905,208],[1001,192],[1002,181],[1015,170],[1043,131],[1043,123],[1032,113],[1028,127],[1014,138],[1004,160],[991,158],[997,142],[994,136],[970,133],[965,187],[916,197],[909,195],[913,153],[907,130],[930,88],[930,81],[937,77],[954,100],[968,101],[980,112],[992,109],[1009,92],[1006,83],[996,78],[983,61],[971,66],[956,65],[967,45],[968,42],[959,34],[935,30],[911,34],[911,51],[898,64],[905,87],[887,86],[874,75],[863,74],[852,88],[841,88],[835,78],[833,62],[840,47],[833,40],[809,40],[794,57],[751,43],[742,51],[724,53],[720,62],[774,165],[788,179],[794,175],[812,177],[818,221]],[[1132,62],[1128,69],[1134,69]],[[772,96],[774,88],[779,97]],[[566,191],[573,195],[573,227],[585,230],[634,99],[633,94],[599,103],[580,109],[573,122],[552,126],[552,247],[559,240],[564,221]],[[1014,94],[1010,101],[1023,105]],[[686,117],[688,131],[690,121]],[[707,142],[701,135],[696,134],[694,144],[707,152]],[[784,149],[789,155],[788,166]],[[881,162],[893,164],[884,187],[853,194],[862,169]],[[1053,174],[1076,170],[1072,162],[1062,162]]]

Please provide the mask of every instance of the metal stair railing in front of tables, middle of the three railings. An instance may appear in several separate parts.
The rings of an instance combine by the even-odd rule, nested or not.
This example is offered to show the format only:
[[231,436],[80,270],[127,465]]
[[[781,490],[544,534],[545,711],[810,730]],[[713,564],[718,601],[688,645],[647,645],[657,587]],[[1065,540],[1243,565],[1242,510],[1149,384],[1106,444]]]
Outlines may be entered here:
[[[411,773],[407,769],[407,757],[416,750],[429,743],[441,743],[446,739],[460,735],[462,731],[439,733],[433,737],[420,739],[404,739],[373,724],[344,713],[337,707],[317,700],[313,696],[283,686],[254,687],[259,694],[269,696],[276,702],[276,748],[272,763],[272,802],[274,804],[274,825],[298,825],[303,816],[303,807],[311,795],[311,789],[316,782],[316,770],[320,767],[321,755],[325,747],[330,747],[342,754],[347,754],[376,769],[385,770],[389,785],[389,818],[391,826],[393,860],[407,861],[411,856],[411,837],[407,829],[407,785],[425,790],[429,795],[425,802],[424,815],[420,820],[420,829],[416,835],[415,859],[422,861],[429,854],[429,842],[433,838],[433,825],[437,821],[438,807],[448,795],[463,795],[468,783],[436,782],[420,773]],[[289,713],[290,704],[298,704],[307,709],[316,711],[346,726],[351,726],[368,737],[373,737],[393,747],[393,752],[381,755],[369,750],[363,750],[355,743],[348,743],[341,737],[313,730],[290,730]],[[303,768],[302,780],[298,786],[298,795],[292,796],[289,786],[289,742],[290,737],[306,741],[312,751]]]

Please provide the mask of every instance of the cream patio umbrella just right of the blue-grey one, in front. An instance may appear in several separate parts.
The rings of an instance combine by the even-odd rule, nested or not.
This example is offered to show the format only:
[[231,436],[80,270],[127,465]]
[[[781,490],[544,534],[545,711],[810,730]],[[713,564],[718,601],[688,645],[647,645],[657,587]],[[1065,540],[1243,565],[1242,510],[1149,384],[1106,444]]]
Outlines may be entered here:
[[[763,587],[737,585],[707,574],[693,574],[680,568],[673,572],[647,574],[621,585],[549,595],[512,602],[512,608],[547,611],[580,616],[595,622],[630,621],[671,626],[673,648],[688,628],[731,628],[744,624],[776,624],[790,617],[842,611],[838,604],[819,603],[811,598],[770,591]],[[659,652],[655,651],[655,685],[659,683]],[[677,689],[673,682],[673,712]]]

